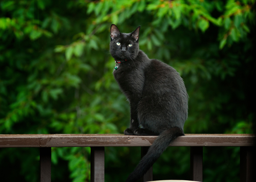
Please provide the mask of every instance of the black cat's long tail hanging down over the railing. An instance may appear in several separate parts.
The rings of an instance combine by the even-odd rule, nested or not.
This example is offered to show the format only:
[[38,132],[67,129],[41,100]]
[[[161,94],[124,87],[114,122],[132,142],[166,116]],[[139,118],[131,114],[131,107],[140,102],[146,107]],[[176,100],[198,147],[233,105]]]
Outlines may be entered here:
[[178,136],[184,136],[184,132],[180,128],[171,128],[163,131],[157,139],[155,139],[154,143],[148,149],[146,155],[140,160],[134,171],[128,176],[126,182],[136,182],[141,178],[160,157],[160,155],[162,155],[170,142]]

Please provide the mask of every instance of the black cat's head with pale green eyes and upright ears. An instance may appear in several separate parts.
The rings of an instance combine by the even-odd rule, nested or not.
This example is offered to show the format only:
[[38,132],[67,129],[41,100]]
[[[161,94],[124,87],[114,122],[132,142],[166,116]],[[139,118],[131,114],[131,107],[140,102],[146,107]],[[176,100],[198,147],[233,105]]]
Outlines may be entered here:
[[120,33],[117,26],[110,28],[110,53],[114,60],[133,60],[139,52],[140,26],[132,33]]

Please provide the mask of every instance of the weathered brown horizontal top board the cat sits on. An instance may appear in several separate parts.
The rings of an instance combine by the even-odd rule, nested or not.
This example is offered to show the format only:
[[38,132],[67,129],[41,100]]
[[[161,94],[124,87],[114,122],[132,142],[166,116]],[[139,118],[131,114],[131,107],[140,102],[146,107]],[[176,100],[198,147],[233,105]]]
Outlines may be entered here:
[[[124,134],[0,134],[0,148],[151,146],[157,136]],[[254,146],[255,134],[186,134],[170,146]]]

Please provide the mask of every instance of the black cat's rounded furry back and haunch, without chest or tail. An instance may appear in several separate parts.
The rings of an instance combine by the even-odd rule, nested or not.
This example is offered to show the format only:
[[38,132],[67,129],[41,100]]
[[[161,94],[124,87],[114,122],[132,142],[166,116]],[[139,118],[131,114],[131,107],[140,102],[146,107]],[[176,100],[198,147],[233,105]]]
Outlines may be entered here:
[[[162,121],[159,128],[183,128],[187,119],[188,95],[180,74],[162,61],[151,59],[145,69],[143,97],[138,105],[142,125],[146,121]],[[152,115],[148,117],[148,111]],[[152,120],[152,121],[153,121]],[[149,127],[149,126],[148,126]],[[150,127],[150,130],[154,128]],[[160,130],[160,129],[159,129]]]

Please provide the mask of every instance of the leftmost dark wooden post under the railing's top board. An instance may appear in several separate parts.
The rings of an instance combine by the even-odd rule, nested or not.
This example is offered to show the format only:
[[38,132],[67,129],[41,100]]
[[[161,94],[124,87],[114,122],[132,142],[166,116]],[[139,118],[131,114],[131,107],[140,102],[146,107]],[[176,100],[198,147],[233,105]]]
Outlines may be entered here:
[[51,182],[51,159],[50,147],[40,148],[40,182]]

